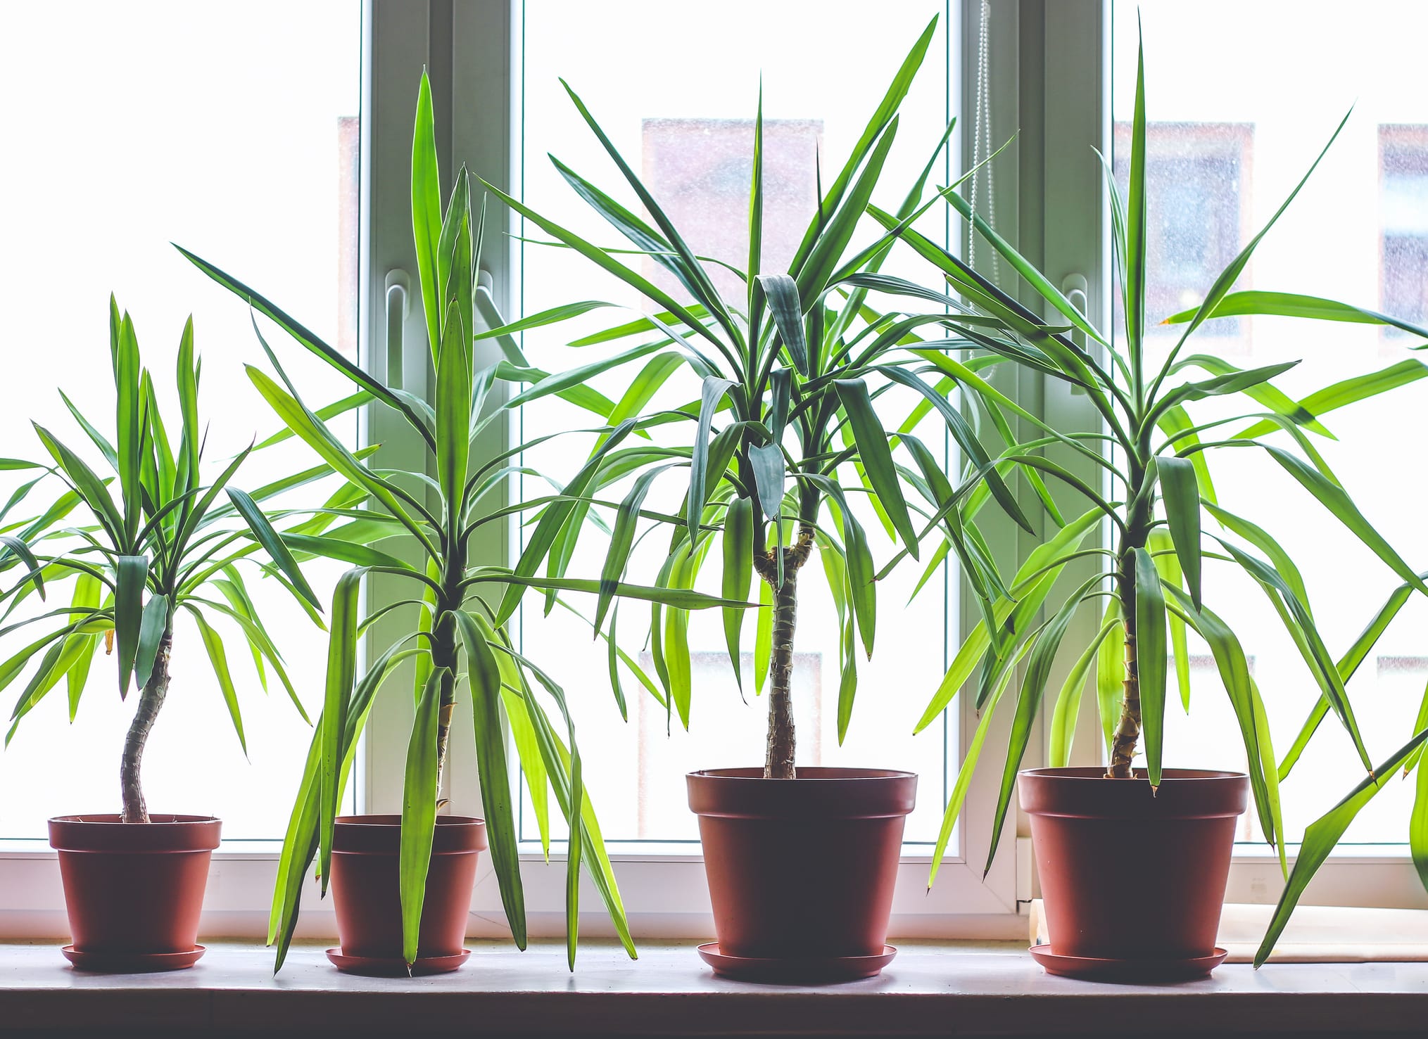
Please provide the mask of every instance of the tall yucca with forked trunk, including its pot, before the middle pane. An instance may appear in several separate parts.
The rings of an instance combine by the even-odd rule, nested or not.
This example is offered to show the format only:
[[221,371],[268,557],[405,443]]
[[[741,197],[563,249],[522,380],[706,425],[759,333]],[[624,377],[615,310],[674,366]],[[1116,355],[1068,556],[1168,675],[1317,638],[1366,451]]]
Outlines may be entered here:
[[[917,776],[897,769],[800,768],[795,765],[791,672],[800,579],[820,557],[840,615],[838,735],[843,738],[857,691],[857,655],[871,655],[875,635],[875,565],[868,538],[850,498],[868,495],[885,514],[890,532],[917,557],[920,541],[947,525],[958,504],[978,487],[994,495],[1020,522],[1021,514],[971,427],[945,395],[910,367],[908,341],[935,325],[938,335],[960,334],[957,315],[881,314],[870,293],[905,285],[878,268],[894,245],[888,231],[853,253],[854,228],[884,173],[897,134],[897,111],[935,27],[927,27],[898,70],[848,161],[823,194],[788,273],[761,265],[763,104],[754,121],[747,264],[735,270],[747,285],[737,301],[724,298],[710,277],[710,261],[697,257],[641,183],[631,164],[570,91],[571,101],[625,183],[648,221],[553,157],[560,174],[594,210],[634,243],[634,253],[660,264],[687,293],[677,297],[615,258],[620,250],[594,245],[496,188],[507,206],[536,228],[571,248],[653,301],[657,314],[590,337],[611,341],[633,334],[651,338],[638,347],[550,377],[516,401],[551,392],[571,380],[630,370],[630,394],[648,402],[670,377],[671,365],[650,358],[660,350],[687,364],[700,380],[700,401],[683,410],[650,407],[675,440],[641,444],[627,464],[593,471],[590,492],[620,481],[633,485],[618,505],[601,572],[594,628],[615,645],[611,592],[624,578],[635,544],[637,515],[651,484],[663,474],[687,481],[677,517],[654,517],[668,527],[668,549],[655,581],[693,588],[701,572],[717,571],[724,597],[750,595],[757,575],[768,605],[755,639],[755,671],[768,681],[768,734],[761,766],[721,768],[687,776],[688,801],[700,816],[700,836],[718,942],[700,948],[715,970],[778,979],[837,979],[877,973],[894,951],[885,945],[904,818],[912,811]],[[567,87],[567,90],[570,90]],[[948,133],[951,127],[948,127]],[[942,138],[945,141],[945,136]],[[941,150],[942,141],[934,148]],[[810,156],[810,161],[813,157]],[[911,225],[932,206],[921,204],[930,161],[894,221]],[[624,250],[631,251],[631,250]],[[850,254],[851,253],[851,254]],[[721,267],[728,264],[720,261]],[[941,304],[940,294],[931,295]],[[688,300],[688,301],[685,301]],[[588,311],[584,303],[531,315],[510,330],[557,323]],[[980,318],[978,318],[980,320]],[[496,330],[500,334],[508,330]],[[941,341],[941,340],[940,340]],[[635,363],[640,363],[635,365]],[[680,367],[674,364],[673,367]],[[651,374],[653,372],[653,374]],[[912,388],[945,417],[952,435],[975,460],[971,475],[952,487],[938,457],[911,432],[890,427],[874,397]],[[641,405],[644,407],[644,405]],[[681,432],[684,431],[684,432]],[[897,447],[897,457],[894,455]],[[583,470],[584,472],[584,470]],[[675,478],[675,477],[671,477]],[[907,487],[925,500],[910,507]],[[985,498],[980,498],[985,500]],[[914,518],[922,512],[930,520]],[[551,517],[537,528],[516,565],[517,575],[541,567],[564,572],[585,511]],[[557,525],[560,524],[560,525]],[[958,539],[958,531],[947,537]],[[718,542],[715,554],[713,545]],[[553,544],[557,547],[553,548]],[[967,548],[958,539],[958,552]],[[498,619],[513,615],[523,588],[513,587]],[[601,631],[608,621],[608,631]],[[725,614],[725,637],[735,676],[740,671],[743,615]],[[663,701],[688,725],[691,696],[687,615],[655,605],[650,627],[654,669]],[[617,691],[618,695],[618,691]]]

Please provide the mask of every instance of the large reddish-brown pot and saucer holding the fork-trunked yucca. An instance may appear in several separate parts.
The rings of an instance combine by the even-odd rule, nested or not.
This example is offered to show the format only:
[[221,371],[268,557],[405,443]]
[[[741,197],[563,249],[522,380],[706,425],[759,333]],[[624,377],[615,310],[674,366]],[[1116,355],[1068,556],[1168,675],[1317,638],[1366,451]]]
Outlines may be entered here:
[[800,768],[797,779],[764,779],[763,769],[728,768],[685,779],[724,961],[717,969],[815,980],[867,976],[891,959],[914,774]]

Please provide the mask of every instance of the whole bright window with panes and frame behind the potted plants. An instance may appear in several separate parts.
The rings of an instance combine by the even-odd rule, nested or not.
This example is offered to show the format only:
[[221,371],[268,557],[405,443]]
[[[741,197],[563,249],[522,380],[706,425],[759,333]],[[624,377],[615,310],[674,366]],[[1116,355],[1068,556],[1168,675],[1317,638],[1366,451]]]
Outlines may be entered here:
[[[420,391],[426,345],[417,308],[406,321],[404,353],[393,353],[396,343],[381,337],[387,330],[388,273],[416,271],[406,160],[423,66],[431,71],[443,120],[444,176],[466,161],[474,173],[507,186],[590,240],[623,244],[545,157],[553,153],[627,206],[637,206],[570,104],[557,78],[564,77],[621,153],[634,160],[694,248],[735,263],[747,250],[751,117],[763,77],[764,263],[781,268],[817,204],[820,163],[827,171],[847,154],[897,61],[934,13],[942,19],[940,33],[904,103],[898,141],[875,201],[887,206],[901,200],[954,114],[962,118],[938,158],[935,184],[965,170],[974,140],[997,147],[1015,133],[1014,144],[995,160],[995,178],[984,178],[978,188],[994,193],[995,201],[980,198],[978,204],[987,213],[994,207],[998,230],[1038,258],[1058,284],[1071,285],[1080,275],[1088,311],[1098,320],[1105,317],[1118,303],[1101,248],[1101,171],[1088,148],[1107,151],[1114,174],[1124,181],[1131,113],[1127,87],[1134,83],[1140,9],[1150,108],[1157,120],[1150,127],[1150,207],[1152,271],[1160,280],[1150,288],[1150,320],[1202,297],[1211,278],[1302,174],[1337,113],[1357,97],[1339,143],[1257,253],[1240,287],[1292,287],[1428,321],[1428,101],[1415,78],[1421,63],[1414,51],[1428,29],[1428,10],[1408,0],[1385,0],[1344,19],[1337,6],[1305,6],[1322,9],[1325,17],[1301,19],[1291,47],[1284,43],[1278,7],[1231,0],[1204,0],[1194,7],[1170,0],[990,3],[984,21],[980,0],[883,4],[875,19],[855,0],[723,0],[717,17],[707,14],[713,6],[698,3],[621,0],[614,24],[613,3],[577,0],[311,0],[297,6],[251,0],[241,6],[241,14],[237,4],[157,0],[121,6],[81,0],[63,10],[3,6],[0,140],[27,147],[24,161],[0,168],[0,196],[26,200],[23,206],[0,206],[0,241],[23,243],[23,248],[0,254],[0,298],[7,303],[10,341],[39,348],[11,351],[7,360],[10,394],[19,398],[21,391],[14,387],[24,387],[27,407],[0,412],[0,438],[29,445],[30,414],[69,428],[70,420],[51,392],[57,384],[77,391],[86,411],[106,415],[103,385],[86,387],[86,380],[71,378],[71,372],[104,361],[103,304],[110,290],[134,313],[146,354],[159,371],[167,371],[183,317],[194,311],[206,357],[204,404],[214,418],[211,457],[246,444],[246,422],[231,420],[258,415],[260,432],[276,428],[241,375],[241,364],[257,357],[247,314],[196,275],[170,250],[169,240],[223,257],[250,284],[281,287],[284,305],[301,321],[377,371],[404,367],[407,388]],[[1225,34],[1227,24],[1237,31]],[[1384,31],[1388,24],[1392,33]],[[276,31],[278,26],[281,31]],[[613,31],[623,34],[620,53],[590,46]],[[61,39],[69,57],[66,73],[59,76],[49,56]],[[675,47],[671,40],[690,46]],[[985,108],[970,100],[984,43]],[[661,56],[671,64],[631,57],[637,54]],[[580,298],[648,308],[580,257],[548,247],[530,228],[507,225],[494,207],[491,214],[494,227],[513,235],[503,248],[501,235],[490,233],[484,258],[507,317]],[[941,213],[930,214],[920,230],[965,250],[964,230]],[[864,234],[871,233],[864,228]],[[978,248],[978,260],[984,255],[987,251]],[[631,263],[643,263],[665,288],[678,288],[663,268]],[[915,280],[928,274],[924,264],[898,251],[885,270]],[[1004,264],[1001,275],[1014,291]],[[714,277],[721,290],[737,295],[733,275],[715,268]],[[605,347],[575,347],[568,340],[618,320],[618,311],[594,311],[581,318],[580,328],[561,325],[570,335],[533,330],[523,347],[543,367],[570,367]],[[1165,348],[1168,341],[1152,325],[1152,348]],[[1250,358],[1257,365],[1307,358],[1281,380],[1299,395],[1382,367],[1387,363],[1375,358],[1405,357],[1415,345],[1412,337],[1379,335],[1369,327],[1281,318],[1221,320],[1200,334],[1198,343],[1202,351],[1240,365],[1248,365]],[[310,401],[348,392],[324,365],[307,364],[296,351],[287,357]],[[1048,421],[1082,424],[1080,428],[1095,421],[1084,401],[1061,387],[1030,377],[1012,382],[1005,390]],[[598,380],[594,384],[601,385]],[[681,374],[661,392],[661,401],[681,407],[697,397],[697,384]],[[1428,384],[1399,388],[1392,408],[1359,405],[1334,412],[1328,425],[1342,440],[1322,445],[1372,522],[1411,558],[1421,541],[1428,490],[1421,481],[1394,475],[1389,455],[1372,445],[1382,438],[1404,442],[1417,437],[1415,418],[1425,410]],[[388,440],[380,421],[373,417],[373,425],[361,431],[354,421],[354,442],[363,435],[383,441],[386,451],[403,451],[400,435]],[[507,437],[514,445],[587,424],[573,408],[543,401],[523,411]],[[935,435],[947,450],[941,432]],[[223,437],[231,442],[218,442]],[[530,451],[524,461],[567,475],[585,450],[588,438],[567,437]],[[0,451],[26,452],[29,447]],[[280,458],[274,451],[271,460],[253,464],[253,477],[261,478],[268,471],[264,467],[274,472],[288,468],[294,458],[307,455],[293,451]],[[1315,615],[1331,649],[1345,647],[1367,619],[1367,604],[1377,604],[1395,579],[1342,538],[1335,538],[1334,551],[1324,551],[1318,507],[1298,487],[1267,472],[1257,460],[1221,461],[1217,478],[1222,495],[1250,502],[1244,510],[1250,518],[1307,561],[1304,575]],[[530,494],[536,488],[527,480],[518,490]],[[677,477],[660,482],[650,505],[674,511],[681,490]],[[864,521],[877,537],[880,521],[871,512]],[[510,544],[488,545],[490,558],[513,558],[521,529],[513,524]],[[590,538],[575,547],[573,572],[595,572],[601,537],[591,528]],[[1010,524],[990,537],[992,551],[1008,567],[1025,557],[1025,545]],[[880,558],[885,558],[887,544],[875,544]],[[651,558],[653,552],[637,554],[631,572],[650,574]],[[313,567],[320,594],[341,569],[341,564]],[[981,875],[1000,779],[988,765],[991,755],[974,779],[937,888],[922,893],[925,861],[975,715],[958,701],[940,725],[917,738],[910,734],[975,611],[962,608],[960,577],[948,568],[934,569],[912,605],[904,608],[920,577],[920,568],[904,565],[881,587],[880,605],[890,619],[880,625],[874,662],[860,668],[854,724],[843,746],[837,741],[835,681],[830,681],[837,672],[834,609],[818,592],[818,582],[808,581],[794,692],[800,761],[892,764],[920,774],[894,932],[1017,936],[1024,932],[1017,903],[1030,898],[1030,878],[1017,866],[1011,826],[985,883]],[[1238,629],[1252,632],[1245,649],[1269,702],[1274,739],[1282,752],[1309,709],[1312,682],[1257,589],[1214,571],[1210,581],[1212,604]],[[380,581],[371,582],[368,595],[371,605],[390,601]],[[271,598],[281,618],[277,627],[294,632],[281,648],[311,706],[321,688],[324,639],[284,597]],[[543,605],[541,597],[527,595],[520,619],[524,647],[570,692],[585,749],[585,778],[637,933],[698,933],[707,929],[707,902],[683,774],[757,759],[765,722],[764,702],[754,695],[751,655],[741,661],[741,696],[717,615],[695,617],[690,731],[677,719],[668,724],[664,709],[628,672],[623,675],[628,721],[621,721],[608,689],[603,644],[591,639],[588,622],[561,604],[541,617]],[[590,604],[575,597],[568,605],[584,612]],[[1372,705],[1359,714],[1375,755],[1402,742],[1401,734],[1418,709],[1428,662],[1415,631],[1422,631],[1425,609],[1418,599],[1409,604],[1379,644],[1378,657],[1364,662],[1349,686],[1355,701]],[[621,642],[647,665],[638,612],[634,605],[624,607],[620,631],[628,635]],[[186,641],[191,645],[191,632]],[[237,648],[230,648],[230,657],[241,672],[248,665]],[[1167,755],[1238,765],[1234,751],[1221,746],[1224,728],[1217,712],[1228,714],[1228,705],[1205,647],[1191,645],[1190,665],[1195,711],[1188,718],[1172,711]],[[1052,676],[1052,685],[1062,674]],[[258,858],[268,851],[258,842],[278,838],[286,825],[308,731],[280,692],[264,698],[250,674],[240,689],[251,755],[246,762],[227,734],[221,698],[211,686],[203,655],[181,651],[174,695],[146,761],[150,802],[159,808],[181,798],[183,804],[173,806],[221,815],[226,836],[253,842],[251,856]],[[47,815],[103,809],[113,802],[117,734],[130,708],[96,684],[71,726],[61,696],[54,699],[27,719],[0,755],[0,789],[26,791],[24,798],[0,796],[0,839],[24,841],[23,848],[43,848]],[[374,715],[368,728],[363,775],[353,785],[357,804],[367,811],[400,806],[410,705],[398,699],[381,702],[377,711],[390,715]],[[1080,762],[1095,755],[1095,728],[1091,721],[1080,729]],[[201,762],[196,762],[194,734],[203,734]],[[1005,738],[1005,728],[994,728],[990,745],[1004,746]],[[56,766],[56,748],[63,748],[64,768]],[[453,755],[448,771],[453,805],[477,811],[474,762],[463,755],[468,752]],[[1034,749],[1025,764],[1038,764],[1035,756]],[[1302,829],[1339,796],[1354,769],[1347,741],[1321,734],[1285,784],[1289,829]],[[43,782],[33,782],[33,776],[43,776]],[[1355,822],[1348,841],[1398,871],[1394,891],[1399,893],[1391,898],[1422,903],[1404,846],[1409,798],[1407,785],[1385,792]],[[540,862],[528,811],[521,825],[530,852],[533,933],[558,933],[560,871]],[[1244,825],[1245,856],[1237,865],[1231,893],[1272,899],[1279,883],[1277,866],[1255,858],[1267,849],[1255,843],[1259,835],[1250,815]],[[241,859],[233,856],[241,848],[226,849],[230,863]],[[10,853],[10,845],[0,852],[4,892],[21,891],[9,883],[10,871],[17,869],[17,859],[4,858]],[[14,852],[21,858],[29,853]],[[1347,871],[1358,868],[1348,856],[1342,862]],[[224,903],[248,912],[243,918],[248,923],[234,925],[238,929],[264,929],[270,871],[271,863],[256,862],[251,885],[233,896],[231,906]],[[1327,889],[1334,898],[1355,885],[1362,888],[1355,879],[1359,873],[1341,872],[1337,879],[1332,873],[1321,876],[1331,878],[1325,883],[1332,885]],[[0,895],[0,911],[4,898]],[[51,903],[59,912],[57,893]],[[501,919],[496,885],[478,885],[473,912],[473,928],[498,932],[500,923],[488,923]],[[591,913],[590,923],[598,929],[603,921],[595,922],[595,916]]]

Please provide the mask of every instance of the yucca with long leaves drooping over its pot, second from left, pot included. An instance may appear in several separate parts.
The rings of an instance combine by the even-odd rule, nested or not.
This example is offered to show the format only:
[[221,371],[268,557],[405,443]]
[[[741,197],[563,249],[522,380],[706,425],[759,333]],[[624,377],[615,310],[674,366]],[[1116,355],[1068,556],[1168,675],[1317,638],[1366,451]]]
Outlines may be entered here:
[[[271,318],[300,345],[351,380],[358,394],[351,402],[374,401],[398,412],[426,447],[423,467],[376,470],[361,464],[303,402],[268,344],[258,340],[281,384],[258,368],[248,375],[283,422],[334,471],[361,490],[371,505],[364,517],[380,520],[384,534],[408,539],[417,562],[371,545],[333,542],[317,537],[304,548],[347,559],[347,571],[333,594],[328,669],[323,714],[308,752],[303,782],[283,843],[268,943],[277,943],[281,968],[297,925],[303,878],[317,859],[321,891],[331,883],[340,949],[328,958],[344,970],[406,973],[453,970],[470,955],[464,949],[476,856],[490,845],[511,935],[526,948],[526,905],[520,873],[506,732],[510,731],[521,774],[531,791],[547,853],[548,799],[568,826],[567,948],[574,966],[580,866],[595,883],[625,951],[634,943],[625,923],[620,891],[605,853],[594,806],[581,779],[581,758],[565,706],[564,691],[533,661],[517,652],[503,624],[510,611],[497,611],[481,594],[490,588],[543,588],[594,594],[595,579],[545,578],[517,568],[471,558],[471,541],[488,524],[504,524],[521,511],[544,510],[536,537],[558,518],[588,507],[590,491],[571,484],[560,494],[493,508],[488,495],[513,472],[524,445],[494,458],[471,454],[471,442],[494,422],[506,420],[498,391],[503,380],[544,377],[518,351],[511,360],[481,365],[474,330],[477,315],[493,313],[478,285],[484,218],[471,208],[470,180],[461,167],[443,213],[431,90],[426,74],[417,100],[411,156],[411,198],[420,287],[436,371],[433,400],[390,388],[288,317],[283,310],[213,264],[186,250],[201,271]],[[483,211],[484,213],[484,211]],[[501,324],[500,320],[496,324]],[[257,325],[254,324],[257,331]],[[561,392],[588,402],[575,384]],[[608,404],[608,402],[607,402]],[[324,410],[326,414],[331,411]],[[604,444],[593,465],[614,452],[640,422],[627,420],[604,428]],[[428,472],[436,474],[433,481]],[[358,617],[358,587],[368,572],[408,579],[420,601],[384,608],[408,608],[407,634],[373,652],[373,664],[356,674],[357,642],[367,621]],[[620,584],[610,594],[653,601],[681,609],[744,607],[731,598],[681,588]],[[410,607],[416,607],[411,609]],[[337,806],[351,771],[353,754],[367,722],[373,698],[404,659],[416,662],[417,711],[411,729],[401,815],[340,816]],[[474,741],[484,802],[484,819],[441,815],[441,774],[457,701],[470,696]],[[537,696],[543,689],[560,712],[565,738],[557,732]],[[410,695],[410,694],[407,694]]]

